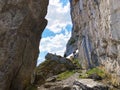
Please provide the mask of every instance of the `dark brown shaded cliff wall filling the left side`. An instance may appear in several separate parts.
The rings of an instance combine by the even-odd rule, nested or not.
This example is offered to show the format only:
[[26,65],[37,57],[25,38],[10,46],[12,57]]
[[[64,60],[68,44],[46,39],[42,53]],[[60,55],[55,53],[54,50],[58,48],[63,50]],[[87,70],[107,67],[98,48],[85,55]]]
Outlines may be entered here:
[[48,0],[0,0],[0,90],[30,83],[47,6]]

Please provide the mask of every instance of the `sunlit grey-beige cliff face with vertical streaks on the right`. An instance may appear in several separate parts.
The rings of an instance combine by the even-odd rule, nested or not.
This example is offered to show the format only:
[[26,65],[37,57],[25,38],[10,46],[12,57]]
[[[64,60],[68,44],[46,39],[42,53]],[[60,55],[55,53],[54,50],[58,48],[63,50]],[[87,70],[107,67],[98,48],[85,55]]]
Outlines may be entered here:
[[[120,75],[120,1],[70,0],[73,22],[72,37],[79,49],[84,68],[105,65],[109,72]],[[70,42],[70,40],[69,40]],[[76,43],[75,42],[75,43]]]

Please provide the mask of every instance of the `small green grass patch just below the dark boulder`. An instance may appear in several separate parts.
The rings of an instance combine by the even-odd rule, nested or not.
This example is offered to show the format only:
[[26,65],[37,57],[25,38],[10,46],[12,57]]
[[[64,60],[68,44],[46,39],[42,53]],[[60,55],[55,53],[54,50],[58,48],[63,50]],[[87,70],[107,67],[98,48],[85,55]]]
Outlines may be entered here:
[[72,70],[72,71],[65,71],[65,72],[63,72],[63,73],[61,73],[61,74],[58,75],[57,80],[67,79],[67,78],[69,78],[71,75],[73,75],[74,73],[75,73],[74,70]]

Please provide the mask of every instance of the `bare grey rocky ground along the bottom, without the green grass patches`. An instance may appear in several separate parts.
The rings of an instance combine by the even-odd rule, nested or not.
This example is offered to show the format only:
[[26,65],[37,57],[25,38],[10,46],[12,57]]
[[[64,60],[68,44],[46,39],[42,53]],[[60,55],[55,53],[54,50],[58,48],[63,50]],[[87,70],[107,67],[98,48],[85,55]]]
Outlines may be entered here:
[[44,84],[38,85],[37,90],[120,90],[120,88],[112,86],[109,81],[105,81],[100,76],[92,75],[81,78],[80,74],[85,75],[85,73],[85,70],[76,71],[63,80],[57,80],[58,75],[49,77]]

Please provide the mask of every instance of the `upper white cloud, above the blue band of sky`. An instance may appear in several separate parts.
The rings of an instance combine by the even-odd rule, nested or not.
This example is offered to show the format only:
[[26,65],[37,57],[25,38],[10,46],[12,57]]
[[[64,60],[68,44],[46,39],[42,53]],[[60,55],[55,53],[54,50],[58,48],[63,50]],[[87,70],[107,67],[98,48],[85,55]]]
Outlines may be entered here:
[[60,33],[68,24],[71,25],[69,3],[63,6],[60,0],[50,0],[46,18],[48,20],[47,29]]

